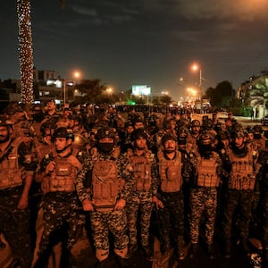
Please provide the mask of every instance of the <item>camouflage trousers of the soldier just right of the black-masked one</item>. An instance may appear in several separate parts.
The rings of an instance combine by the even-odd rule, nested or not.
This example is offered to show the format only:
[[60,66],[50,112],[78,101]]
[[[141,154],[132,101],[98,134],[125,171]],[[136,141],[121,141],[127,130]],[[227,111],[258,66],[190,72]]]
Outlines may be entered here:
[[143,197],[140,195],[133,195],[127,204],[128,214],[128,230],[130,236],[130,244],[137,244],[137,221],[138,221],[138,210],[140,210],[140,240],[143,247],[147,247],[149,244],[149,229],[150,220],[153,210],[153,202],[150,197]]

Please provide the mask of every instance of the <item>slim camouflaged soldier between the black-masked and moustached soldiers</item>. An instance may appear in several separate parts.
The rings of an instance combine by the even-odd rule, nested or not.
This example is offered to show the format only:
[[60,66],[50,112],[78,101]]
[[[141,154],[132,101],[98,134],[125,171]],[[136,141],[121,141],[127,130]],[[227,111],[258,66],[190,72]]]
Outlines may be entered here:
[[148,260],[152,260],[152,249],[149,245],[149,228],[153,205],[162,206],[156,197],[158,182],[155,155],[147,149],[147,133],[143,129],[132,132],[133,150],[126,153],[129,159],[127,171],[131,173],[131,196],[127,202],[128,228],[130,236],[129,255],[138,249],[138,211],[140,211],[140,238]]

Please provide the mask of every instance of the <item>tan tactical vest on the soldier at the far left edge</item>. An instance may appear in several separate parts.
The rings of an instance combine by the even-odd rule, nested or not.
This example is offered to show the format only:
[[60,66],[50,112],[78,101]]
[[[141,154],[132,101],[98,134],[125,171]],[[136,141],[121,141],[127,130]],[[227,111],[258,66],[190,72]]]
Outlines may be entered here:
[[7,153],[0,163],[0,189],[13,188],[22,185],[22,168],[18,162],[18,143],[13,143],[10,153]]

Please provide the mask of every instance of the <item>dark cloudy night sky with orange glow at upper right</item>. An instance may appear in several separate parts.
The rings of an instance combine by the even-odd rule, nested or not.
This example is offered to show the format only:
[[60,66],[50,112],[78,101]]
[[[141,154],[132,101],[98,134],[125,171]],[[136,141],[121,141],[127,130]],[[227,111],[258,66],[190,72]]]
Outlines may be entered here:
[[[174,100],[188,86],[234,88],[268,68],[267,0],[32,0],[34,64],[116,91],[150,85]],[[0,79],[19,79],[16,1],[0,4]],[[180,82],[183,78],[183,82]]]

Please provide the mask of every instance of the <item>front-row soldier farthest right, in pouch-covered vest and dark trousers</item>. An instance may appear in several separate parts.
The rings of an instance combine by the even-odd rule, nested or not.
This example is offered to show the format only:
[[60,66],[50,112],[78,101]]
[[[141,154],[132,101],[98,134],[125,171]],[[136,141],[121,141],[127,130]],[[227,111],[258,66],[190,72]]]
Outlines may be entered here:
[[228,155],[230,178],[222,221],[226,258],[230,258],[231,227],[235,213],[239,213],[240,244],[245,253],[249,253],[249,248],[247,247],[248,229],[252,201],[255,196],[255,176],[259,171],[259,165],[256,163],[257,154],[255,150],[247,147],[246,141],[245,131],[237,130],[234,132],[231,150]]

